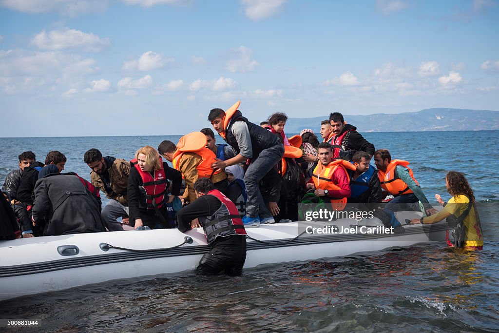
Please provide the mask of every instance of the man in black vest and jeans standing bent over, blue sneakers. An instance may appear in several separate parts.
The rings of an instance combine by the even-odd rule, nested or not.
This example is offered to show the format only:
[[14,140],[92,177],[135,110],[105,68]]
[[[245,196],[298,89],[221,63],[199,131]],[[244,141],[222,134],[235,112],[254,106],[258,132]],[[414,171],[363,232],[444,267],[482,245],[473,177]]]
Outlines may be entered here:
[[[208,120],[213,128],[231,145],[238,153],[226,161],[217,160],[212,168],[225,169],[238,163],[247,163],[245,185],[248,194],[246,202],[246,216],[243,222],[247,227],[258,227],[265,219],[273,219],[265,207],[263,198],[258,188],[258,182],[265,174],[281,160],[284,155],[284,146],[277,136],[270,131],[253,124],[243,117],[238,110],[240,101],[225,112],[222,109],[212,109]],[[260,218],[263,218],[260,221]]]

